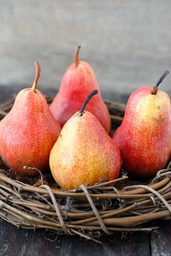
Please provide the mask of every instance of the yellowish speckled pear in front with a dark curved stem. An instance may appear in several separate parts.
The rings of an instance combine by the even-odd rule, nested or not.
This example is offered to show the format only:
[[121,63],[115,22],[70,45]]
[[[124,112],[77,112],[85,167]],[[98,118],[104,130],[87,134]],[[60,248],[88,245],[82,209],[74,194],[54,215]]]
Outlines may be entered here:
[[80,185],[94,185],[101,178],[117,179],[121,156],[96,116],[84,108],[98,91],[93,90],[83,104],[64,124],[49,158],[50,169],[61,188],[71,190]]

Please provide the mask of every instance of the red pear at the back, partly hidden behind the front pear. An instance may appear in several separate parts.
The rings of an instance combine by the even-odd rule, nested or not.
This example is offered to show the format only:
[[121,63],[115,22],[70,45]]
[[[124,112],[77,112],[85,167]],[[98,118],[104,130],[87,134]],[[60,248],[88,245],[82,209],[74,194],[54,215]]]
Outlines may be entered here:
[[78,61],[79,49],[80,46],[75,52],[75,63],[66,70],[62,78],[59,92],[54,97],[50,110],[63,127],[67,120],[82,107],[87,95],[97,89],[99,92],[97,97],[92,98],[86,110],[96,116],[106,132],[109,133],[111,120],[108,108],[102,99],[92,67],[85,61]]

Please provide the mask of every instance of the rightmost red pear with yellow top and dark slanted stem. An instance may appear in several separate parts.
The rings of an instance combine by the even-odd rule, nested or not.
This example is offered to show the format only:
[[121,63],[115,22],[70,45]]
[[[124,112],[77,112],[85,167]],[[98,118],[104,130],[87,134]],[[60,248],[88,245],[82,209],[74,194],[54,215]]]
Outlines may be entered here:
[[143,86],[130,96],[122,124],[113,135],[129,177],[149,179],[165,168],[171,155],[171,103],[158,85]]

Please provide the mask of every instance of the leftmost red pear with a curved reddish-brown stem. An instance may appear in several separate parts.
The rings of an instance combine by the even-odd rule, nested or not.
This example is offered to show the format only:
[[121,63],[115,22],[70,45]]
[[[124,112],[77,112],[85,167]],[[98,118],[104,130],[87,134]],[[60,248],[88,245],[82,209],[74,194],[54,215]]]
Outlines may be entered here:
[[36,89],[40,66],[35,62],[36,76],[32,88],[21,90],[11,111],[0,121],[0,156],[8,168],[28,176],[49,168],[50,151],[61,126],[52,115],[44,95]]

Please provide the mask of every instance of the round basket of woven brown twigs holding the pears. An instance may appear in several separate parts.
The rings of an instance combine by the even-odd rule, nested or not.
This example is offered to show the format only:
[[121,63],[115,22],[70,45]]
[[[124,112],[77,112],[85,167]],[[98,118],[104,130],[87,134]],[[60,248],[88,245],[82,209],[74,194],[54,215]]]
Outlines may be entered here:
[[[46,100],[50,104],[53,99],[46,96]],[[0,119],[13,103],[11,99],[0,106]],[[109,100],[105,104],[112,136],[123,120],[125,105]],[[2,161],[0,165],[0,217],[18,228],[76,234],[100,243],[100,236],[116,231],[152,231],[158,227],[143,223],[171,216],[171,163],[153,180],[130,180],[121,171],[116,180],[102,179],[70,191],[58,187],[50,172],[32,178],[9,170]]]

